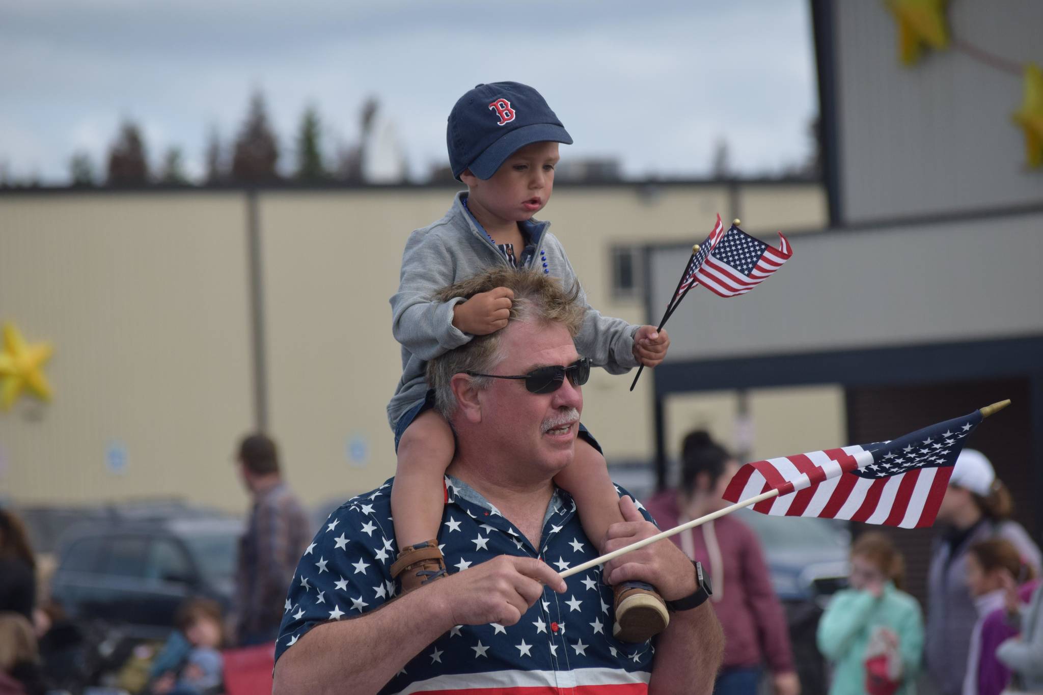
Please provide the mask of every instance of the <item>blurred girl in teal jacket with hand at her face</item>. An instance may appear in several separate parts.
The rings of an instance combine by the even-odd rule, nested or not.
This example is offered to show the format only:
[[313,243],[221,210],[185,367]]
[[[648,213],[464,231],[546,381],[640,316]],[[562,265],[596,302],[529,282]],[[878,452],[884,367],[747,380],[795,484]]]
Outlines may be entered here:
[[901,591],[905,562],[879,531],[851,547],[851,589],[838,592],[819,621],[819,650],[833,664],[831,695],[914,695],[923,653],[923,618]]

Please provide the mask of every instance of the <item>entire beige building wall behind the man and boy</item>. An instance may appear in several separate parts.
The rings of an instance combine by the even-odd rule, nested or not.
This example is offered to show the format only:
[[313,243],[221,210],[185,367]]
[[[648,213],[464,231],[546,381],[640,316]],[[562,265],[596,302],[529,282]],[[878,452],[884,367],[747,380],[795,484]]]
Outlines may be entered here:
[[[453,193],[258,196],[269,429],[308,504],[394,473],[384,408],[402,366],[388,299],[409,232],[440,218]],[[733,215],[733,193],[718,184],[562,185],[541,217],[590,303],[640,323],[639,300],[612,297],[611,248],[701,240],[715,213]],[[751,231],[825,224],[817,185],[741,187],[737,200]],[[164,495],[245,507],[228,458],[253,422],[246,205],[242,192],[0,199],[0,320],[56,348],[46,369],[55,401],[23,400],[0,414],[0,494],[54,502]],[[757,225],[761,217],[771,222]],[[649,376],[630,393],[631,377],[596,370],[585,390],[584,422],[610,462],[652,456]],[[733,400],[671,398],[669,422],[683,424],[670,427],[717,414],[714,427],[731,441],[733,418],[722,419],[720,403]],[[676,447],[677,432],[668,439]],[[121,450],[125,471],[113,473],[110,458]]]

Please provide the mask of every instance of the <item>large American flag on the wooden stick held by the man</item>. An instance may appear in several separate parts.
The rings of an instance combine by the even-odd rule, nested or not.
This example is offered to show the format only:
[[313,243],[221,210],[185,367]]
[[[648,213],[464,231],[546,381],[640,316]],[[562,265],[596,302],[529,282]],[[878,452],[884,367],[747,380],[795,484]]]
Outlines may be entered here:
[[778,496],[754,504],[756,512],[930,526],[956,456],[980,422],[981,412],[975,411],[897,440],[747,464],[724,498],[737,502],[775,489]]

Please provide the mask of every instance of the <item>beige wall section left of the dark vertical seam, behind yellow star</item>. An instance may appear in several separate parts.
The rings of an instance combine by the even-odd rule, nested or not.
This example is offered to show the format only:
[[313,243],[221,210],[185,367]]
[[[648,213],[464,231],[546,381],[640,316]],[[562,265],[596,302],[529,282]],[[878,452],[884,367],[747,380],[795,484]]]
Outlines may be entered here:
[[242,506],[244,212],[238,195],[0,198],[0,322],[54,346],[53,402],[0,413],[0,495]]

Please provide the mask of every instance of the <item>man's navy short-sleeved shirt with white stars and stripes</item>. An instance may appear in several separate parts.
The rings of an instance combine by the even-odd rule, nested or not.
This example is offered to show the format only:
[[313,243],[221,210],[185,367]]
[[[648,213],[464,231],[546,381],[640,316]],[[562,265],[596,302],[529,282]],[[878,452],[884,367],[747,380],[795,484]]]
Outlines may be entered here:
[[[276,660],[315,625],[368,613],[395,595],[389,572],[397,554],[392,480],[342,504],[308,546],[283,606]],[[480,494],[462,481],[445,480],[438,541],[451,574],[501,554],[539,557],[558,571],[598,555],[563,490],[551,500],[537,550]],[[601,568],[566,584],[564,594],[544,589],[517,624],[453,627],[381,693],[647,693],[654,647],[612,638],[612,591]]]

